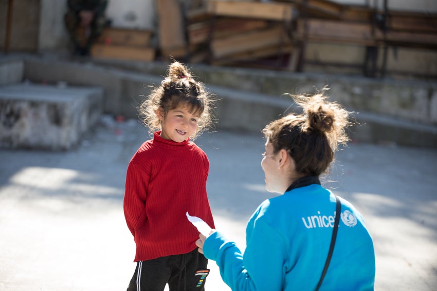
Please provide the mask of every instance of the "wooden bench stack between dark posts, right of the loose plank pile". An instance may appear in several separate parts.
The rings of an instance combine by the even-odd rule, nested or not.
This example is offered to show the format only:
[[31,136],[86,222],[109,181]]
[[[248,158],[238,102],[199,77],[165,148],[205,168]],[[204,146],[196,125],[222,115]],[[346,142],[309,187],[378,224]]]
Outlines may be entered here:
[[[299,51],[297,71],[304,71],[305,65],[313,65],[355,68],[365,75],[375,74],[376,52],[372,48],[377,45],[376,36],[382,34],[375,25],[372,8],[330,0],[287,2],[296,5],[299,11],[293,32]],[[309,48],[313,50],[308,52]],[[343,53],[335,55],[333,50]],[[348,50],[354,53],[345,53]]]

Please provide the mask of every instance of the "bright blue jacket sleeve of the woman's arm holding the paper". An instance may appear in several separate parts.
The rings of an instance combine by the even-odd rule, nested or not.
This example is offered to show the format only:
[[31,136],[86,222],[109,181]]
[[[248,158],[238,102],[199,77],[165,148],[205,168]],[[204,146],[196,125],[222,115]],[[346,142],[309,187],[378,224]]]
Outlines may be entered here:
[[256,226],[247,238],[244,256],[235,243],[220,232],[214,232],[206,239],[204,254],[216,261],[223,281],[232,290],[282,290],[285,276],[283,265],[287,258],[284,241],[264,221],[257,221]]

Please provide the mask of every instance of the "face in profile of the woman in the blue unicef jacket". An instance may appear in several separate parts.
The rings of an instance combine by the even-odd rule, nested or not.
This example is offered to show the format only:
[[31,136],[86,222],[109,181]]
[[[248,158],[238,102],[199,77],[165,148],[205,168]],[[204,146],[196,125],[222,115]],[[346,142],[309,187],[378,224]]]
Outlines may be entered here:
[[265,174],[265,187],[269,192],[277,192],[282,194],[282,188],[279,175],[278,154],[273,154],[273,146],[267,140],[265,146],[264,158],[261,161],[261,167]]

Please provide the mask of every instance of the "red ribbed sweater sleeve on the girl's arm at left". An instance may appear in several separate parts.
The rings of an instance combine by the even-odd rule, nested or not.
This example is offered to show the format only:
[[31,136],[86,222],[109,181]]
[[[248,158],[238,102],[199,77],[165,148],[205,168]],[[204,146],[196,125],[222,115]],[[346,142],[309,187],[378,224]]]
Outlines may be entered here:
[[135,237],[135,230],[143,211],[147,198],[148,174],[140,169],[135,163],[129,163],[126,173],[126,183],[123,199],[124,218],[129,230]]

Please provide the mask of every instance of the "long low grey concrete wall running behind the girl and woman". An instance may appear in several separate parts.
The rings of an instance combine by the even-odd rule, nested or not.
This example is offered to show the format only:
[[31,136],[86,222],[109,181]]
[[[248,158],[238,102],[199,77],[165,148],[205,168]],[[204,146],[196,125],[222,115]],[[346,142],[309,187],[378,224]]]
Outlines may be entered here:
[[[20,65],[9,69],[21,69]],[[104,112],[137,119],[137,108],[150,85],[162,80],[168,64],[71,63],[24,58],[23,79],[32,83],[98,86],[104,89]],[[143,66],[141,66],[141,64]],[[295,110],[283,93],[314,93],[329,85],[327,95],[349,111],[357,125],[351,137],[365,142],[389,141],[409,146],[437,147],[437,84],[373,80],[348,76],[301,74],[210,66],[193,66],[199,81],[216,94],[217,128],[259,131],[271,120]],[[1,67],[0,67],[0,71]],[[0,74],[1,76],[1,74]],[[1,87],[0,87],[1,90]]]

